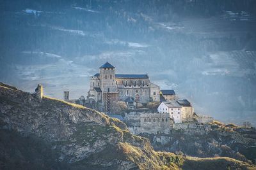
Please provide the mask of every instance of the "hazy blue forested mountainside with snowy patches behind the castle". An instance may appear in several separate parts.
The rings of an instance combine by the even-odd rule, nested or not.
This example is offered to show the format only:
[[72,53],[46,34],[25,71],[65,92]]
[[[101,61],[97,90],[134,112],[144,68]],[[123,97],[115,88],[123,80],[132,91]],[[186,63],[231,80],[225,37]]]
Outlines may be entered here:
[[196,113],[256,125],[253,0],[1,0],[0,81],[77,99],[107,59]]

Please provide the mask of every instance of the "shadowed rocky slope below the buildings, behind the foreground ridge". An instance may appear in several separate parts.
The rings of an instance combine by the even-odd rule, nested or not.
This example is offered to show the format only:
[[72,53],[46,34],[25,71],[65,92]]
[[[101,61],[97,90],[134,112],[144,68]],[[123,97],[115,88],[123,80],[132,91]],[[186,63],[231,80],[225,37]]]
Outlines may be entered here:
[[255,128],[226,127],[221,124],[204,126],[209,129],[173,129],[171,134],[141,134],[141,136],[150,139],[152,146],[160,151],[180,151],[193,157],[232,157],[255,163]]

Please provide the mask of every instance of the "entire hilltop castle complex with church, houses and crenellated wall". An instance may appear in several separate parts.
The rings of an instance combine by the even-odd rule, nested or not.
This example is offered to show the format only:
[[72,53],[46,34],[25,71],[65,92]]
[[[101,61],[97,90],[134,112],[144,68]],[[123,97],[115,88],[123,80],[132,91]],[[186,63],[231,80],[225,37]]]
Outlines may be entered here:
[[[150,81],[148,74],[116,74],[115,67],[109,62],[100,66],[99,73],[90,78],[86,98],[81,96],[70,100],[66,91],[64,100],[84,106],[97,104],[106,113],[111,113],[113,103],[122,101],[129,110],[125,114],[125,122],[133,127],[132,131],[140,132],[166,132],[172,124],[192,122],[194,114],[193,106],[187,99],[179,99],[174,90],[161,90]],[[138,113],[138,105],[148,103],[159,103],[157,110]]]

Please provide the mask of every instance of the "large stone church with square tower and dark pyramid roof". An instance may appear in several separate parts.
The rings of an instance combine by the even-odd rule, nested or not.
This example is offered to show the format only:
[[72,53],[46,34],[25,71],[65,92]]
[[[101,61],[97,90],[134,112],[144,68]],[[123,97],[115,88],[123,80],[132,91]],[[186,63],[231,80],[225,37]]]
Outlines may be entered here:
[[90,78],[90,101],[125,101],[129,97],[138,103],[160,101],[160,88],[151,83],[148,74],[116,74],[115,67],[106,62],[99,73]]

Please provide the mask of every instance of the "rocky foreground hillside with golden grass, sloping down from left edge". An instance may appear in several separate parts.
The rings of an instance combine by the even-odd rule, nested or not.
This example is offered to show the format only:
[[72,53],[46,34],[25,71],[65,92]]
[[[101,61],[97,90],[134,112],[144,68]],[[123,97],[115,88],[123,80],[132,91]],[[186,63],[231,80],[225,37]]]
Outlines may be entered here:
[[156,152],[104,113],[0,83],[0,169],[255,169]]

